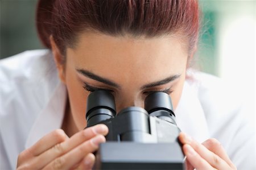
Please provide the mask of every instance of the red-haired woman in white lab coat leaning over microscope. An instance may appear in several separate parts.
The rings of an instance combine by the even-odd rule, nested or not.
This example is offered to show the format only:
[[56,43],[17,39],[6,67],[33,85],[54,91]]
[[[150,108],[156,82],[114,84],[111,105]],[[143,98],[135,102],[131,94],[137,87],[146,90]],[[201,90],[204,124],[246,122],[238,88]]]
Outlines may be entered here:
[[117,112],[144,107],[151,92],[170,94],[189,134],[179,136],[187,169],[255,168],[254,134],[233,92],[189,69],[196,0],[41,0],[37,28],[49,50],[0,64],[1,168],[91,169],[108,134],[104,125],[83,130],[87,97],[99,89],[112,92]]

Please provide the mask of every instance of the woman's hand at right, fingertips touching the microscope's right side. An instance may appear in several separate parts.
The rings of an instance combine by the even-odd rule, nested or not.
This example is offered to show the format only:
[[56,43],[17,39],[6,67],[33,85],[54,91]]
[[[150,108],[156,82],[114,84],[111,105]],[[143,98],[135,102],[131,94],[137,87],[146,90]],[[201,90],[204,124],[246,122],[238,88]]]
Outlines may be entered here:
[[208,139],[200,144],[183,132],[179,135],[183,144],[183,152],[187,156],[187,170],[191,169],[237,169],[229,159],[221,143],[216,139]]

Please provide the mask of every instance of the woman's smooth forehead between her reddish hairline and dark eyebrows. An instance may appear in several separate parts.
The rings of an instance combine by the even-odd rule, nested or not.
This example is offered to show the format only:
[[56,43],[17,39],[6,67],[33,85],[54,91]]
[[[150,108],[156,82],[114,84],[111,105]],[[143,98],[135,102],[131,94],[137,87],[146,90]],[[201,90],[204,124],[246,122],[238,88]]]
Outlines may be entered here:
[[67,61],[113,80],[124,75],[159,79],[184,69],[186,49],[178,36],[133,38],[85,33],[75,48],[67,49]]

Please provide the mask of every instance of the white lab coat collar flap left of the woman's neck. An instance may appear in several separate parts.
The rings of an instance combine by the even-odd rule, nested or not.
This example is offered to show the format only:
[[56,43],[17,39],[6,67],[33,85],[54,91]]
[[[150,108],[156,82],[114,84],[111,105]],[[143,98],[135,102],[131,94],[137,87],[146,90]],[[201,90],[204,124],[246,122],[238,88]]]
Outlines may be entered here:
[[46,107],[36,118],[26,141],[25,147],[31,147],[40,138],[49,132],[61,128],[65,106],[67,102],[67,90],[62,82],[58,82],[52,97],[49,99]]

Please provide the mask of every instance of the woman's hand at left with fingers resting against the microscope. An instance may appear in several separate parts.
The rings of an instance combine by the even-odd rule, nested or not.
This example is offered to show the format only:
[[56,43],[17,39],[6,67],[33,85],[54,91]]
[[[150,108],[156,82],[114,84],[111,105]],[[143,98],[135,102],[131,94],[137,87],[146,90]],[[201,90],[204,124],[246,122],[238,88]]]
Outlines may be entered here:
[[108,127],[96,125],[71,138],[61,129],[52,131],[18,156],[17,169],[92,169],[92,154],[105,142]]

